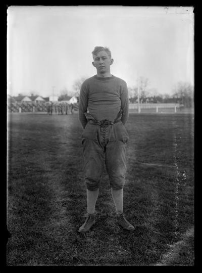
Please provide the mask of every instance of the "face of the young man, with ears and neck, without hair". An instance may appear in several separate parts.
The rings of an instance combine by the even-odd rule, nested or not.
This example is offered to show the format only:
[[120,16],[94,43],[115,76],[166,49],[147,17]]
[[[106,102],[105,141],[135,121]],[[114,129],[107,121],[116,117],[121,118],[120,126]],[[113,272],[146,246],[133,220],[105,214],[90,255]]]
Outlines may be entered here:
[[110,73],[110,65],[113,64],[113,59],[105,51],[100,51],[93,56],[93,66],[97,69],[98,74]]

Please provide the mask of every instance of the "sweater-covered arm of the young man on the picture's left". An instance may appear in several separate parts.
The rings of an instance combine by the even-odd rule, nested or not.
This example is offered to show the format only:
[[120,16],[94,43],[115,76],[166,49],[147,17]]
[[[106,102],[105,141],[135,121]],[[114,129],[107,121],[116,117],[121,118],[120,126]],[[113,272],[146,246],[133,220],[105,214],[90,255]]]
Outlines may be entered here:
[[84,113],[87,112],[88,108],[88,95],[87,95],[87,86],[85,84],[81,85],[80,95],[79,95],[79,120],[83,129],[87,124],[87,119],[85,118]]

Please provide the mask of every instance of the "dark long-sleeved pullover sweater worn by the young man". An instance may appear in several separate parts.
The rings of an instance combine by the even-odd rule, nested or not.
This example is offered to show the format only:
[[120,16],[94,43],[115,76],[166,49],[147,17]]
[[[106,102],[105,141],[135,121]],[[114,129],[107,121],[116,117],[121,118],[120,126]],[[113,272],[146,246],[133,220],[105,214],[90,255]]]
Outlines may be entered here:
[[79,120],[83,128],[87,123],[84,113],[89,112],[97,120],[114,121],[122,110],[123,124],[128,119],[128,88],[124,80],[112,76],[96,75],[86,79],[81,85],[79,96]]

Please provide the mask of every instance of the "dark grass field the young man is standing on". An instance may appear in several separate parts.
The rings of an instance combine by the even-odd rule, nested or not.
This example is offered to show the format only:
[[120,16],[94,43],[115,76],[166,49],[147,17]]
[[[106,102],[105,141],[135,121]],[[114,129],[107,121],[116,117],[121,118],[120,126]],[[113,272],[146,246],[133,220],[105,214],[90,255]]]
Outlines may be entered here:
[[[106,170],[87,234],[78,116],[8,115],[8,265],[193,265],[193,115],[130,114],[124,211]],[[180,242],[180,243],[179,243]]]

